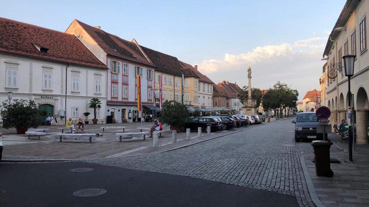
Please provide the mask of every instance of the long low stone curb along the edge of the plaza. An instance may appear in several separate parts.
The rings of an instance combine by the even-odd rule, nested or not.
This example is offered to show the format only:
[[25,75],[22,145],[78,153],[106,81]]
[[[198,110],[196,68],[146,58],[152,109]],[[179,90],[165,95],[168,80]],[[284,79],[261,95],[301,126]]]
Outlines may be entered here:
[[[286,119],[290,119],[290,118],[293,118],[293,117],[288,117]],[[285,120],[285,119],[279,119],[279,120],[276,120],[276,121],[282,121],[282,120]],[[274,121],[274,122],[276,122],[276,121]],[[175,147],[175,148],[171,148],[171,149],[168,149],[168,150],[163,150],[163,151],[159,151],[159,152],[144,153],[144,154],[137,154],[137,155],[127,155],[127,156],[121,156],[121,157],[133,157],[133,156],[157,154],[157,153],[161,153],[161,152],[168,152],[168,151],[178,150],[180,148],[188,147],[188,146],[191,146],[191,145],[194,145],[194,144],[198,144],[198,143],[201,143],[201,142],[204,142],[204,141],[212,140],[212,139],[215,139],[215,138],[228,136],[230,134],[238,133],[238,132],[241,132],[241,131],[252,129],[254,127],[263,126],[265,124],[270,124],[270,123],[274,123],[274,122],[264,122],[264,124],[262,124],[262,125],[256,125],[256,126],[253,126],[253,127],[247,127],[245,129],[242,129],[242,130],[239,130],[239,131],[233,131],[231,133],[223,134],[223,135],[216,136],[216,137],[211,137],[211,138],[208,138],[206,140],[201,140],[201,141],[197,141],[197,142],[190,143],[190,144],[185,144],[185,145],[182,145],[180,147]],[[86,160],[95,160],[95,159],[106,159],[106,158],[85,158],[85,159],[2,159],[0,162],[65,162],[65,161],[86,161]]]

